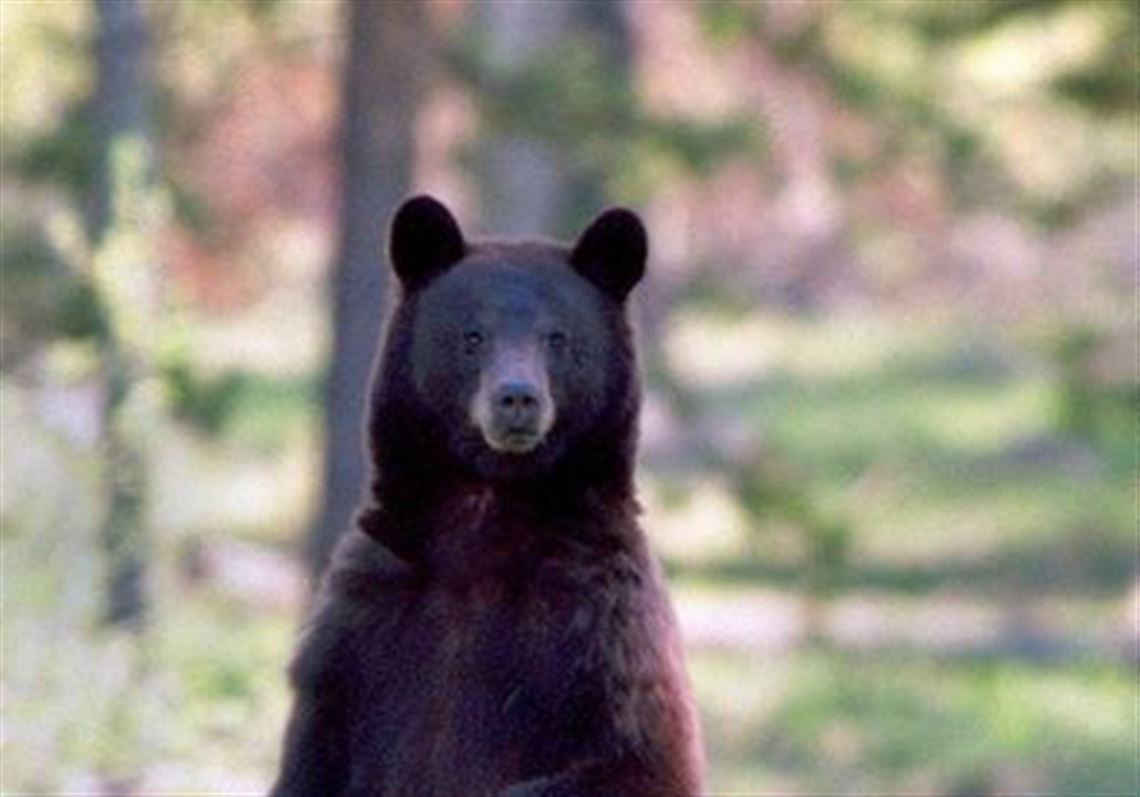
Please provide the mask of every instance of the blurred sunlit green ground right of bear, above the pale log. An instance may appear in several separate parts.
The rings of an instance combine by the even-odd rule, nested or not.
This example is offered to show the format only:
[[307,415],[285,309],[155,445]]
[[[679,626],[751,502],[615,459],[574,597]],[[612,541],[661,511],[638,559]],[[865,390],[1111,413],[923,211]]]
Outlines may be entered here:
[[693,396],[764,430],[730,483],[740,546],[678,574],[915,595],[1127,588],[1134,399],[1097,405],[1090,446],[1058,429],[1044,358],[976,322],[789,322],[764,337],[781,353],[763,381]]

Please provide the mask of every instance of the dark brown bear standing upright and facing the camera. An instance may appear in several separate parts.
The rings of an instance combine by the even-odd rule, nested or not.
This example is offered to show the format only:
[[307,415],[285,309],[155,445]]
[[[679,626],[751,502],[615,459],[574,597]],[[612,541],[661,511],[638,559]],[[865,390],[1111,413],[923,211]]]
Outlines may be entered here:
[[467,241],[417,196],[389,242],[372,481],[291,666],[271,797],[694,797],[634,490],[642,221]]

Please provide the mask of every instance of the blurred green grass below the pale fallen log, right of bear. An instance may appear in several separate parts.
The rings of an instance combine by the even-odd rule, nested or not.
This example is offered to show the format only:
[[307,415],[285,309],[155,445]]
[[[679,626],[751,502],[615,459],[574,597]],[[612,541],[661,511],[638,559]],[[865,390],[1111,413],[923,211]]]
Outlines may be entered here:
[[813,648],[691,657],[710,792],[1127,794],[1133,678]]

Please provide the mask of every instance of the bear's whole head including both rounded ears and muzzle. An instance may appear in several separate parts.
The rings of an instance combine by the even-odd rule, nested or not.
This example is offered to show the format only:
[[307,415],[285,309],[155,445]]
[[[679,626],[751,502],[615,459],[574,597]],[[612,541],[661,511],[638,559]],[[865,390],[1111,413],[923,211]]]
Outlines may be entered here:
[[435,479],[535,480],[627,454],[638,384],[625,306],[646,251],[626,210],[568,247],[466,242],[441,204],[407,202],[391,235],[401,294],[374,384],[381,478],[418,464]]

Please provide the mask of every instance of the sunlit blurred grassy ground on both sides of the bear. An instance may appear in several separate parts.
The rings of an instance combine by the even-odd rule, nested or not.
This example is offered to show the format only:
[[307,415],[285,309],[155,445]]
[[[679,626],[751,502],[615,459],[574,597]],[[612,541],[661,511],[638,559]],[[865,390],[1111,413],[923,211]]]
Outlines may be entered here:
[[[1058,436],[1040,359],[937,319],[692,312],[668,352],[698,399],[679,424],[726,438],[711,460],[651,453],[642,490],[711,792],[1134,794],[1129,423]],[[160,440],[138,683],[117,641],[87,633],[95,461],[3,387],[6,790],[82,790],[124,756],[152,790],[268,786],[315,469],[316,381],[307,360],[278,366],[220,436]],[[846,540],[826,589],[808,588],[804,529],[715,461],[738,438]],[[145,733],[122,735],[116,694]]]

